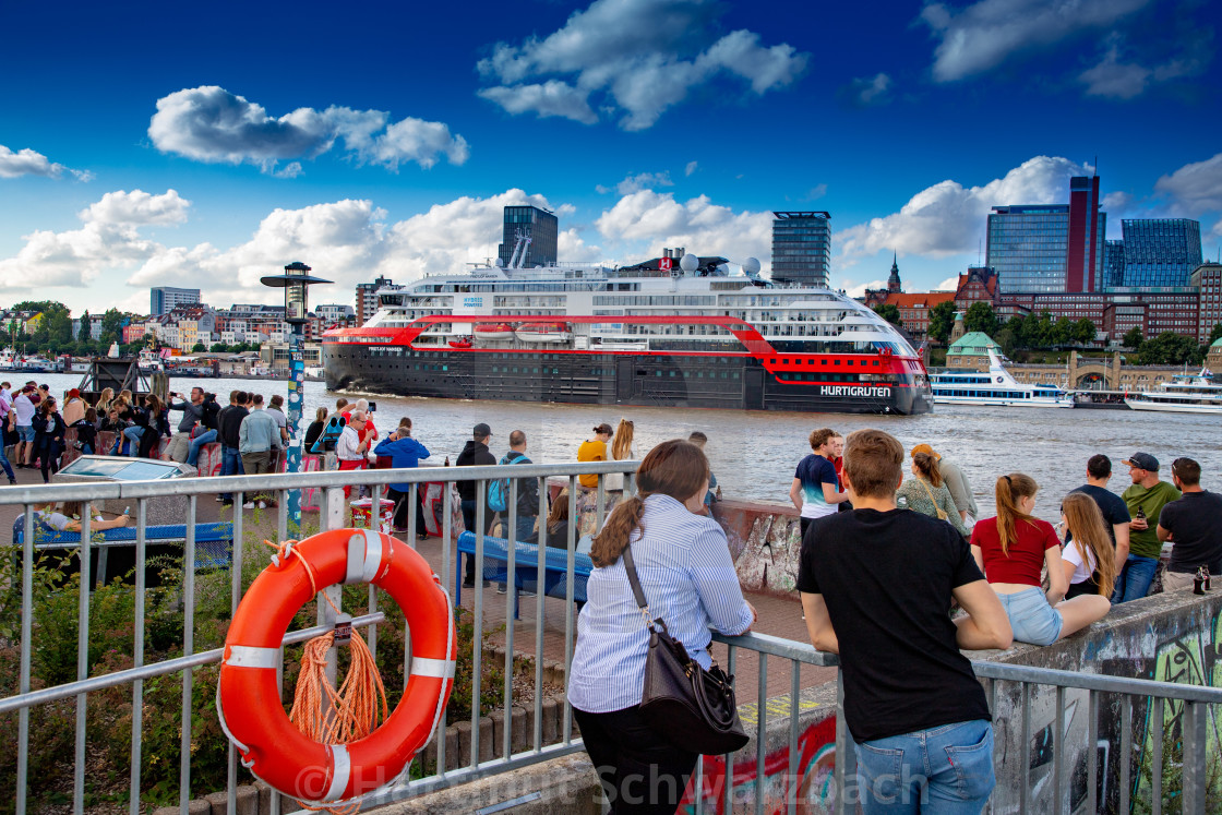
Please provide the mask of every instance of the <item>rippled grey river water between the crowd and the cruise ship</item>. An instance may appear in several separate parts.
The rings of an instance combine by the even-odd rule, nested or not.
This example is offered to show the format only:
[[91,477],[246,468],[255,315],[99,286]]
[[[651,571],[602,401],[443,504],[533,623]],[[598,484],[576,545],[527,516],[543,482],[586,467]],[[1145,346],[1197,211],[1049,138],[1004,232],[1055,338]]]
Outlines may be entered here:
[[[57,395],[81,382],[79,374],[35,374],[35,378]],[[24,378],[0,374],[0,379]],[[247,379],[172,378],[170,387],[189,391],[194,385],[218,393],[221,403],[227,403],[229,392],[237,389],[264,397],[286,393],[284,381]],[[306,382],[304,422],[313,420],[320,406],[334,408],[337,396],[327,392],[323,382]],[[1222,490],[1220,415],[938,406],[935,413],[921,417],[893,417],[365,396],[376,401],[374,423],[379,431],[391,430],[400,417],[411,417],[412,435],[433,453],[430,463],[439,464],[446,456],[451,462],[458,457],[470,439],[472,426],[479,422],[492,428],[491,448],[496,456],[508,450],[511,430],[523,430],[532,459],[549,463],[576,461],[578,445],[593,435],[594,425],[606,422],[615,426],[621,417],[633,422],[633,451],[638,458],[660,441],[703,430],[709,436],[705,452],[725,496],[749,501],[788,502],[794,467],[810,452],[807,436],[824,426],[844,435],[862,428],[881,428],[909,450],[920,442],[931,445],[963,467],[982,517],[992,514],[997,477],[1023,472],[1041,486],[1035,513],[1058,521],[1061,497],[1085,483],[1086,459],[1095,453],[1111,457],[1110,486],[1116,492],[1129,484],[1128,468],[1121,459],[1136,451],[1154,455],[1162,463],[1160,473],[1167,480],[1173,459],[1195,458],[1201,463],[1205,489]],[[170,418],[176,426],[178,414]]]

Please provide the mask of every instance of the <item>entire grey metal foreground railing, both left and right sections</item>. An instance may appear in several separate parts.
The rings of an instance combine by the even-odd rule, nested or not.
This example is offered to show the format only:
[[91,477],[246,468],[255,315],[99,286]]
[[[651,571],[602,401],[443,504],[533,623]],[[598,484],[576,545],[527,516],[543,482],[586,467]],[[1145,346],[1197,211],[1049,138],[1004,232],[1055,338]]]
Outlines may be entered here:
[[[88,485],[50,485],[50,486],[18,486],[7,488],[0,491],[0,505],[23,506],[23,544],[21,546],[21,623],[20,623],[20,683],[17,693],[0,699],[0,716],[11,716],[16,712],[18,717],[17,743],[16,743],[16,788],[13,789],[15,810],[23,814],[29,808],[29,781],[31,781],[31,711],[40,705],[67,699],[76,700],[75,734],[73,734],[73,784],[72,806],[73,811],[83,813],[86,808],[87,786],[87,756],[90,744],[87,739],[87,704],[90,694],[105,692],[115,688],[131,688],[132,726],[130,745],[130,792],[128,808],[132,813],[141,810],[141,793],[145,789],[149,777],[143,771],[143,701],[145,695],[145,683],[159,677],[177,676],[181,684],[180,722],[180,755],[177,766],[178,804],[183,813],[187,811],[187,803],[193,797],[192,791],[192,743],[193,722],[192,715],[196,712],[193,703],[194,679],[193,671],[202,666],[214,665],[221,660],[220,649],[196,650],[196,593],[197,593],[197,568],[194,524],[198,519],[198,496],[214,492],[232,492],[235,506],[240,507],[243,496],[257,492],[274,492],[279,497],[279,507],[274,518],[263,527],[254,529],[257,533],[274,533],[280,540],[288,536],[287,501],[286,494],[292,489],[319,488],[324,491],[324,501],[319,522],[321,529],[347,525],[345,511],[345,488],[357,484],[365,485],[371,491],[373,506],[378,507],[379,500],[385,494],[390,484],[409,485],[407,500],[414,507],[419,501],[419,489],[425,483],[442,483],[445,485],[441,499],[441,538],[440,538],[440,568],[439,574],[442,585],[450,587],[452,576],[451,568],[459,568],[461,561],[456,557],[456,535],[453,529],[453,491],[450,485],[457,480],[475,481],[477,488],[477,552],[475,574],[484,573],[485,535],[488,517],[484,511],[486,503],[486,490],[492,479],[508,478],[510,495],[507,500],[506,529],[517,527],[517,495],[523,479],[535,479],[540,489],[540,495],[547,491],[547,479],[561,477],[567,480],[569,523],[568,539],[565,541],[567,549],[567,577],[565,578],[565,611],[563,611],[563,640],[562,654],[565,674],[572,662],[574,646],[574,555],[577,550],[578,535],[578,489],[577,473],[599,474],[599,486],[587,495],[595,501],[594,512],[596,523],[601,524],[602,513],[606,507],[606,494],[602,477],[610,473],[624,473],[624,491],[633,490],[632,470],[635,462],[602,462],[583,464],[517,464],[508,467],[470,467],[445,469],[425,468],[417,470],[357,470],[343,473],[304,473],[295,475],[259,475],[259,477],[229,477],[211,479],[185,479],[172,481],[143,481],[127,484],[88,484]],[[150,502],[167,496],[186,497],[186,539],[183,541],[183,567],[181,578],[181,601],[183,612],[181,656],[163,659],[158,661],[145,660],[145,565],[147,565],[147,517]],[[89,660],[89,630],[90,630],[90,580],[79,582],[79,596],[77,599],[77,648],[76,648],[76,679],[59,684],[34,688],[35,679],[32,674],[33,663],[33,633],[35,627],[34,607],[34,556],[35,556],[35,505],[53,501],[82,501],[86,502],[82,512],[82,535],[79,545],[79,562],[89,563],[90,550],[94,546],[90,534],[89,502],[105,500],[131,501],[136,507],[137,538],[136,568],[134,568],[134,613],[133,613],[133,649],[131,654],[132,666],[109,673],[97,673],[95,666]],[[541,502],[541,507],[546,502]],[[236,610],[243,593],[243,565],[253,557],[251,549],[246,545],[247,532],[251,527],[258,527],[254,519],[243,517],[242,512],[235,512],[233,518],[233,546],[230,565],[229,580],[229,606],[232,613]],[[370,523],[378,523],[378,512],[370,513]],[[408,545],[415,545],[415,512],[407,513],[407,540]],[[545,539],[546,524],[540,508],[540,536]],[[539,547],[539,573],[544,572],[545,540]],[[508,557],[506,563],[506,583],[514,585],[517,558]],[[495,755],[486,758],[480,749],[484,740],[481,728],[488,727],[488,721],[481,716],[479,699],[481,695],[481,665],[485,655],[483,652],[483,638],[480,632],[485,628],[486,611],[483,590],[477,584],[473,590],[473,602],[470,613],[473,626],[477,632],[472,644],[472,714],[470,714],[470,749],[466,756],[459,756],[455,766],[451,766],[447,749],[447,739],[452,736],[446,733],[446,720],[442,717],[436,734],[436,766],[429,775],[423,770],[392,788],[384,789],[368,800],[369,805],[387,803],[403,798],[414,797],[425,792],[450,787],[467,781],[507,773],[513,770],[538,764],[540,761],[567,755],[582,750],[582,743],[573,737],[572,709],[567,700],[563,701],[558,733],[555,743],[547,744],[549,739],[544,733],[544,703],[541,689],[544,687],[544,654],[546,651],[545,630],[545,598],[543,580],[539,582],[539,591],[534,602],[534,641],[533,649],[528,649],[534,655],[534,701],[533,701],[533,727],[530,728],[529,743],[525,749],[514,751],[513,733],[511,726],[513,709],[513,676],[514,676],[514,651],[516,632],[513,624],[507,624],[505,630],[505,663],[503,687],[500,690],[501,712],[494,714],[503,717],[501,720],[501,739],[499,745],[494,745]],[[5,588],[5,587],[0,587]],[[9,587],[11,588],[11,587]],[[329,590],[332,600],[338,602],[340,591],[335,587]],[[505,619],[513,619],[516,599],[512,591],[506,593]],[[528,604],[523,604],[527,607]],[[325,633],[334,627],[334,612],[325,602],[318,604],[318,626],[301,630],[293,630],[285,638],[285,644],[304,641],[310,637]],[[353,624],[364,627],[369,632],[369,646],[376,655],[378,626],[387,624],[387,616],[378,609],[378,594],[374,587],[369,588],[368,607],[365,612],[356,616]],[[788,773],[789,783],[785,784],[787,813],[797,811],[804,802],[798,799],[799,783],[803,769],[797,765],[799,761],[798,743],[800,738],[800,695],[807,688],[803,687],[800,672],[803,666],[833,667],[838,665],[835,655],[816,651],[807,643],[789,641],[764,634],[745,634],[742,637],[715,635],[715,641],[728,648],[727,671],[736,672],[739,666],[739,656],[750,654],[756,660],[756,721],[754,723],[755,744],[760,745],[755,750],[755,791],[753,800],[745,803],[739,800],[734,783],[734,756],[725,756],[726,783],[719,791],[717,805],[705,800],[703,794],[698,794],[693,802],[697,813],[719,809],[721,811],[739,811],[753,809],[755,813],[775,811],[767,804],[764,783],[766,767],[766,750],[763,745],[769,743],[767,733],[770,723],[776,726],[780,721],[777,716],[769,721],[767,703],[777,696],[788,695],[789,709],[787,714],[787,742],[788,742]],[[409,639],[407,639],[409,644]],[[555,637],[552,638],[554,652],[556,651]],[[409,648],[404,648],[404,683],[411,670]],[[769,665],[777,660],[788,661],[789,683],[787,689],[780,694],[770,695],[769,689]],[[1116,811],[1132,811],[1134,803],[1145,802],[1146,792],[1150,800],[1143,806],[1149,806],[1151,813],[1161,813],[1167,808],[1163,802],[1165,788],[1174,786],[1178,773],[1180,789],[1179,803],[1185,813],[1205,813],[1213,806],[1212,795],[1217,795],[1217,787],[1222,784],[1220,776],[1222,772],[1217,767],[1217,750],[1220,744],[1220,723],[1217,721],[1215,705],[1222,703],[1222,689],[1201,685],[1185,685],[1169,682],[1154,682],[1146,679],[1133,679],[1123,677],[1111,677],[1101,674],[1079,673],[1050,668],[1035,668],[1020,665],[975,661],[973,667],[976,676],[986,685],[986,695],[990,710],[995,717],[995,732],[1011,738],[1013,749],[998,749],[995,760],[998,776],[998,787],[993,794],[993,803],[1004,788],[1017,789],[1018,800],[1004,809],[1018,809],[1019,811],[1044,806],[1051,811],[1067,811],[1070,809],[1070,786],[1075,769],[1067,764],[1073,748],[1085,747],[1085,794],[1081,800],[1086,811],[1097,811],[1100,808],[1114,808]],[[833,769],[833,786],[836,791],[836,809],[847,811],[848,795],[843,794],[854,783],[853,749],[849,743],[849,734],[843,722],[843,688],[837,672],[837,705],[836,705],[836,734],[835,749],[836,762]],[[1048,700],[1051,703],[1048,704]],[[741,703],[745,701],[739,699]],[[1051,707],[1047,716],[1051,718],[1048,731],[1048,745],[1051,748],[1052,766],[1046,783],[1036,784],[1031,778],[1033,764],[1033,711],[1044,703]],[[1084,706],[1086,710],[1085,727],[1078,727],[1073,732],[1067,728],[1067,716],[1073,706]],[[1103,716],[1107,712],[1110,718]],[[1141,711],[1136,715],[1135,711]],[[1114,722],[1119,718],[1118,727],[1102,728],[1105,721]],[[1000,722],[1006,721],[1002,728]],[[1105,732],[1107,729],[1108,732]],[[1015,736],[1017,734],[1017,736]],[[33,734],[39,738],[39,733]],[[1017,742],[1014,740],[1017,739]],[[1140,739],[1140,745],[1138,740]],[[776,739],[774,738],[772,742]],[[1100,765],[1099,745],[1105,744],[1105,760]],[[1140,747],[1140,749],[1139,749]],[[1146,749],[1149,748],[1149,749]],[[13,745],[4,745],[2,749],[13,749]],[[456,753],[456,751],[453,751]],[[430,753],[431,754],[431,753]],[[738,756],[743,758],[743,756]],[[1113,772],[1118,784],[1113,788],[1102,786],[1101,780],[1108,778]],[[38,770],[35,767],[35,770]],[[694,789],[703,793],[704,780],[700,773],[704,771],[704,762],[698,764],[698,775]],[[237,754],[232,747],[229,748],[227,759],[227,804],[229,811],[236,811],[236,797],[238,778]],[[1017,780],[1017,783],[1013,783]],[[1149,783],[1143,787],[1143,780]],[[166,781],[156,778],[155,781]],[[593,780],[591,780],[593,783]],[[1102,795],[1100,789],[1102,788]],[[1143,792],[1146,791],[1146,792]],[[194,791],[219,792],[219,791]],[[1136,793],[1136,794],[1135,794]],[[281,797],[273,795],[273,813],[280,813],[282,808],[293,809],[290,800],[287,804]],[[1051,803],[1050,803],[1051,802]],[[1209,802],[1209,803],[1207,803]],[[1074,803],[1077,805],[1077,802]]]

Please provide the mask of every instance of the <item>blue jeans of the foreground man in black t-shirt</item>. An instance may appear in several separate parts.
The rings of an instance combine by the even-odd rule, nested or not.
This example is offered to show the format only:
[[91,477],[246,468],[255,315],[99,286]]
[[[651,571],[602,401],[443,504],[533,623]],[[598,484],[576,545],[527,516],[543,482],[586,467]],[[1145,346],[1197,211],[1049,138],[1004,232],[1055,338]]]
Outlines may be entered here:
[[854,743],[862,810],[979,815],[996,784],[992,747],[982,718]]

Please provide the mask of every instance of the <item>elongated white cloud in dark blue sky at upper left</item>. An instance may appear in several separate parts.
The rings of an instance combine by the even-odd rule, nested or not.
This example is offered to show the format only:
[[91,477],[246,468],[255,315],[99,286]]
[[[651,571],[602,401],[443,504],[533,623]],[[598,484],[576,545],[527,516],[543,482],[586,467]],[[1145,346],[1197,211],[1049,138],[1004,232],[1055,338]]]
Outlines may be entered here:
[[[390,121],[380,110],[326,110],[298,108],[279,119],[246,98],[216,86],[185,88],[156,103],[149,137],[163,153],[222,164],[254,164],[264,172],[293,177],[301,164],[276,170],[281,161],[314,159],[343,139],[347,154],[358,164],[389,170],[414,161],[431,167],[440,156],[463,164],[467,141],[451,134],[444,122],[407,117]],[[296,166],[295,166],[296,165]]]

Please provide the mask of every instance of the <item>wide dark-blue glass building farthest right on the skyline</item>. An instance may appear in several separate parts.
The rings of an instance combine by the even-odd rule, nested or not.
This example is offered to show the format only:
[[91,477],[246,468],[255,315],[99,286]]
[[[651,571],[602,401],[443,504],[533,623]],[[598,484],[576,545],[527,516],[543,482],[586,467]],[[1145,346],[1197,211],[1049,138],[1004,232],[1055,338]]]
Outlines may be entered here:
[[1187,217],[1133,219],[1124,230],[1124,286],[1187,286],[1201,265],[1201,225]]

